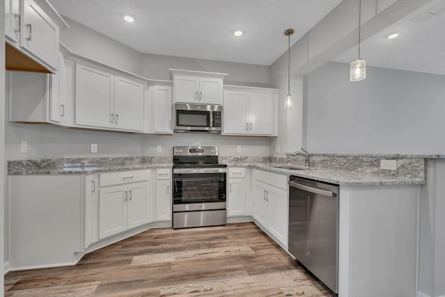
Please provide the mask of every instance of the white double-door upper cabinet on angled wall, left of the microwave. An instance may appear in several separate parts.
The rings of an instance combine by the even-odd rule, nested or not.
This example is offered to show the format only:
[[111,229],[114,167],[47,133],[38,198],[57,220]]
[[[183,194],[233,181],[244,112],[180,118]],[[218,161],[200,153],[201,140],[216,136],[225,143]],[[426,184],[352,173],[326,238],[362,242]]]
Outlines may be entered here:
[[76,125],[143,130],[143,83],[76,63],[75,84]]

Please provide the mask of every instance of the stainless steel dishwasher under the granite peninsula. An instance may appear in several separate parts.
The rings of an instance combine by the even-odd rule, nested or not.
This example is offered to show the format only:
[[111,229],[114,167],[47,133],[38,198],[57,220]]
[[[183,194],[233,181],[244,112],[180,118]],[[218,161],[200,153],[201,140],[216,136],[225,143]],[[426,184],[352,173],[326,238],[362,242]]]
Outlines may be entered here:
[[339,186],[289,178],[289,252],[338,293]]

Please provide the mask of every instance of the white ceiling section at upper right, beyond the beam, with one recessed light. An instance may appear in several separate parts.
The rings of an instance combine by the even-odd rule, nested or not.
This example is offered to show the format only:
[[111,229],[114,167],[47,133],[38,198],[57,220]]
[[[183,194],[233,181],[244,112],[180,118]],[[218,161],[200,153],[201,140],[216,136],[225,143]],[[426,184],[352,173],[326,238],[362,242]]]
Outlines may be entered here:
[[[430,1],[360,44],[360,58],[366,65],[445,74],[445,1]],[[389,40],[392,32],[401,35]],[[334,61],[350,63],[357,58],[357,47]]]

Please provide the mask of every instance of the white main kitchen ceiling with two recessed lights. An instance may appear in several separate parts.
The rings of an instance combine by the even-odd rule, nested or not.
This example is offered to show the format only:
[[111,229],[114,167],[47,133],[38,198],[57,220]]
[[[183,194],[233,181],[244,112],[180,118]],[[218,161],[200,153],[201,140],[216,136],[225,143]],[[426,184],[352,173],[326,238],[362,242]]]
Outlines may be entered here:
[[[147,54],[271,65],[341,0],[49,0],[73,19]],[[127,23],[122,15],[135,22]],[[233,35],[243,29],[241,38]]]

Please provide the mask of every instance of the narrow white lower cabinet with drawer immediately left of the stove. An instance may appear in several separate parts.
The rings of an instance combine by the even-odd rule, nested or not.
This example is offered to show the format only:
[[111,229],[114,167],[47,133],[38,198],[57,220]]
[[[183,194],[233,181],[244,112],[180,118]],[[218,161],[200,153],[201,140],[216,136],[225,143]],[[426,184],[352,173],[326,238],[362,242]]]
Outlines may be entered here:
[[172,169],[156,170],[156,220],[172,219]]

